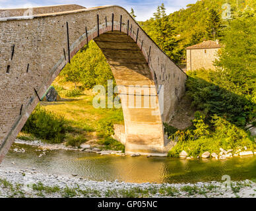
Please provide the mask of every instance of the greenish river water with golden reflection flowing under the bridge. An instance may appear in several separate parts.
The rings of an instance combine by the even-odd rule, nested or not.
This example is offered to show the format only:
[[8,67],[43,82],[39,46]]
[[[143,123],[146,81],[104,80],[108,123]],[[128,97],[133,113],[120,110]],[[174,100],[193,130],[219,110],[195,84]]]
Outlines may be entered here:
[[[13,148],[26,152],[14,152]],[[227,160],[181,160],[146,156],[100,156],[73,150],[52,150],[39,157],[36,146],[14,144],[2,167],[35,168],[49,174],[71,175],[94,181],[119,181],[132,183],[196,183],[221,181],[230,175],[233,181],[256,178],[256,156]],[[13,164],[15,162],[15,165]]]

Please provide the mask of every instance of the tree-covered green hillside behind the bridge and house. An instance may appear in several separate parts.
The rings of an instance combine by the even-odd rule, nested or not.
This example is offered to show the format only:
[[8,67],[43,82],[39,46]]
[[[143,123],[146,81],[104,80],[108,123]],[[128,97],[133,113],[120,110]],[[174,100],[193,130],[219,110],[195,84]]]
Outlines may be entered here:
[[[227,13],[229,11],[228,5],[230,4],[231,15]],[[162,18],[162,26],[170,26],[172,32],[166,34],[162,31],[162,37],[164,40],[172,40],[172,47],[169,46],[171,52],[166,50],[167,54],[176,63],[180,63],[182,59],[185,59],[185,47],[194,45],[199,42],[203,42],[203,39],[207,40],[222,40],[222,30],[229,24],[230,18],[233,18],[238,11],[243,11],[245,7],[256,8],[256,1],[254,0],[203,0],[197,1],[195,4],[189,4],[185,9],[180,9],[170,15],[165,14],[165,9],[159,6],[154,13],[154,17],[145,22],[139,22],[145,32],[156,42],[160,44],[160,35],[158,22]],[[216,14],[214,14],[216,12]],[[212,14],[213,13],[213,14]],[[216,17],[217,16],[217,17]],[[224,18],[222,18],[222,16]],[[225,19],[226,18],[226,19]],[[219,19],[219,20],[216,20]],[[216,26],[214,26],[216,24]],[[212,28],[215,28],[212,30]],[[212,30],[212,31],[211,31]],[[219,33],[215,34],[214,30],[218,30]]]

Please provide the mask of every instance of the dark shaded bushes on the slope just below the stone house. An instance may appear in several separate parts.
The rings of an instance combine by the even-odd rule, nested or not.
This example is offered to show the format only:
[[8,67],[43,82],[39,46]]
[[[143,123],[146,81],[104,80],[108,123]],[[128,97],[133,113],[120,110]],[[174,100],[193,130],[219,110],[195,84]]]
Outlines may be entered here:
[[246,96],[217,86],[215,71],[200,69],[187,74],[187,96],[191,99],[192,106],[208,117],[216,114],[238,126],[244,126],[255,117],[255,104],[247,100]]

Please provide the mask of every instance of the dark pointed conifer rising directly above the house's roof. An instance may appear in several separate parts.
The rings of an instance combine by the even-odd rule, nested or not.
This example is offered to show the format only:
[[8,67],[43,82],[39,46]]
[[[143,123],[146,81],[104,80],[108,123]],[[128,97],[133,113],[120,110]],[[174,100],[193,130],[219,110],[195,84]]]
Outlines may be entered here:
[[214,9],[210,9],[208,12],[206,25],[208,40],[220,38],[220,30],[222,28],[220,15]]

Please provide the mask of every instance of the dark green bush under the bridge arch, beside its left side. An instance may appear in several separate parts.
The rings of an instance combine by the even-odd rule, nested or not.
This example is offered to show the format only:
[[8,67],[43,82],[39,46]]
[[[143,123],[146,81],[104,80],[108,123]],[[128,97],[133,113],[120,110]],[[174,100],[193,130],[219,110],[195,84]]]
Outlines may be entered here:
[[42,140],[60,143],[65,138],[66,121],[64,117],[46,111],[44,107],[38,105],[26,121],[22,131]]

